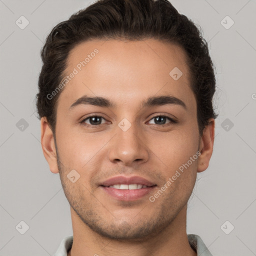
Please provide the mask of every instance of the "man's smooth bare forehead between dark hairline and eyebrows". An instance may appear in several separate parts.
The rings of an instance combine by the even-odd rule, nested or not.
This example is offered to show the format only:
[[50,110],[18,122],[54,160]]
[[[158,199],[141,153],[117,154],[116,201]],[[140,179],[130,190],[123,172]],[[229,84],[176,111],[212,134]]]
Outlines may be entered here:
[[[176,74],[182,75],[174,79]],[[69,52],[65,75],[69,80],[58,101],[69,106],[85,94],[122,105],[155,94],[171,94],[191,104],[194,100],[184,51],[154,39],[79,43]]]

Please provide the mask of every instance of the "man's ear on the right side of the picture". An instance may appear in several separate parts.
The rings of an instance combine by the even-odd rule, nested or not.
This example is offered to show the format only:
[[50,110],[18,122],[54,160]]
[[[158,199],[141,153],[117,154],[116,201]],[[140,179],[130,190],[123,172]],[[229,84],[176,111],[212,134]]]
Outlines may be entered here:
[[213,150],[214,127],[215,121],[213,118],[211,118],[209,119],[209,123],[205,126],[203,134],[200,138],[199,150],[201,154],[198,158],[197,172],[204,171],[209,165],[210,157]]

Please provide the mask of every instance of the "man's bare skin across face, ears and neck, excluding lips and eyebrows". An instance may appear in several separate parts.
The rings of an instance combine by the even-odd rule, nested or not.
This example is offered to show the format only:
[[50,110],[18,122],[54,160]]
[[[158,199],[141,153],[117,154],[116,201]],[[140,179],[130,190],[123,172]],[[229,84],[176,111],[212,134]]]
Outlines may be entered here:
[[[196,173],[209,164],[214,119],[200,137],[185,53],[155,39],[86,41],[71,50],[66,74],[94,48],[96,56],[60,92],[55,141],[47,119],[41,118],[43,154],[50,171],[59,172],[70,203],[73,245],[68,255],[196,255],[186,235],[187,201]],[[175,66],[183,73],[176,81],[169,75]],[[81,104],[69,111],[85,94],[111,99],[117,107]],[[140,107],[155,95],[175,96],[186,109],[177,104]],[[102,116],[102,124],[92,127],[89,118],[87,126],[80,123],[89,114]],[[166,114],[178,122],[166,118],[161,124],[153,118]],[[127,131],[118,126],[123,118],[131,124]],[[150,202],[148,197],[198,150],[200,156]],[[66,177],[72,169],[80,174],[74,183]],[[117,200],[99,183],[119,174],[142,176],[157,186],[135,201]]]

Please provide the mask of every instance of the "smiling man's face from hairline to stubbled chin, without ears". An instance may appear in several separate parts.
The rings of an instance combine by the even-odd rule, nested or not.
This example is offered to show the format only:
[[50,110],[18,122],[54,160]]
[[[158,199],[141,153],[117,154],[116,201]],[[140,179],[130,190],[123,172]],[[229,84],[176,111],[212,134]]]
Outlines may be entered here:
[[[175,67],[180,77],[178,69],[169,74]],[[183,50],[158,40],[87,41],[70,52],[71,72],[58,98],[55,146],[75,217],[113,239],[160,232],[186,207],[197,171],[196,100]]]

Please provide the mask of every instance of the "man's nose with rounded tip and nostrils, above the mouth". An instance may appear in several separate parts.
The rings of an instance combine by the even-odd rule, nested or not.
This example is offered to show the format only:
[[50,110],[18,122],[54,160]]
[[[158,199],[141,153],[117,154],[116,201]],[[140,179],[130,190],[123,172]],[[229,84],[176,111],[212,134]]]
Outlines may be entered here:
[[123,131],[116,127],[116,135],[110,143],[109,160],[122,162],[125,166],[146,162],[149,157],[149,149],[146,146],[145,135],[135,125]]

